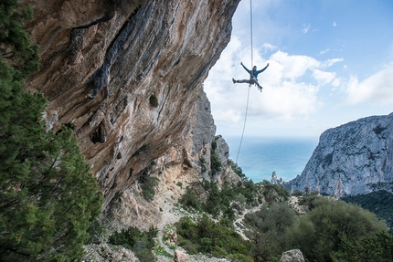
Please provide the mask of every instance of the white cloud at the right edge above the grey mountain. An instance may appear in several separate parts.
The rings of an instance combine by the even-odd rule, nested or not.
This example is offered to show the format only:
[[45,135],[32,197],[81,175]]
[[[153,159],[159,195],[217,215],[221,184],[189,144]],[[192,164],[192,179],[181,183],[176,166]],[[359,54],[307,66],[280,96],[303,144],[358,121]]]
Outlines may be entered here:
[[363,81],[351,76],[345,94],[350,105],[366,102],[393,104],[393,63]]

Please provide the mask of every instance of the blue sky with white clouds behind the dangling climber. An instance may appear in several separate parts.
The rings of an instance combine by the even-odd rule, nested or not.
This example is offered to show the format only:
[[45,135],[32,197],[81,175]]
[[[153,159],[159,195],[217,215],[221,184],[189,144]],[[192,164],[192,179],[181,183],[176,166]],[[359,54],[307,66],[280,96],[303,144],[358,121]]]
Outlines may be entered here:
[[217,134],[310,137],[349,121],[393,112],[393,1],[254,0],[232,20],[231,40],[204,82]]

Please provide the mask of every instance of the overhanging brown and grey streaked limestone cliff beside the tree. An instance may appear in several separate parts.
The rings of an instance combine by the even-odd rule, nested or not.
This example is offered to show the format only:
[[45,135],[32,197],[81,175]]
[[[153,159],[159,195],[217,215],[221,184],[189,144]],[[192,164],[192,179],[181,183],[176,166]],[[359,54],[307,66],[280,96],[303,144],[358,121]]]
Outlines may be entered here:
[[41,57],[27,90],[48,97],[48,129],[75,126],[104,205],[153,160],[198,165],[214,137],[212,122],[191,129],[201,84],[239,0],[23,2]]

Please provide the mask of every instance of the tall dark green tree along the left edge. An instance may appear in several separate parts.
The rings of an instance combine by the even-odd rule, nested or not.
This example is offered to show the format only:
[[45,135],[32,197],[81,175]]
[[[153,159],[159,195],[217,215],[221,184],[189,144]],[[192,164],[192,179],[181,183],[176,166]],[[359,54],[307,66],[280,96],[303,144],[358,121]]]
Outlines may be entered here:
[[80,259],[102,195],[73,131],[45,131],[47,106],[23,90],[37,70],[37,47],[23,29],[31,8],[0,4],[0,257],[2,261]]

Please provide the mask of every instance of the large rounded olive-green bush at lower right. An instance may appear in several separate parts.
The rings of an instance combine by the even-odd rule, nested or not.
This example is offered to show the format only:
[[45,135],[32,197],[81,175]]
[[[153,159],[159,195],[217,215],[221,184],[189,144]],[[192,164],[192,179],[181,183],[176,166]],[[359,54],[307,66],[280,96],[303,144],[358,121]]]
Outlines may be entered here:
[[320,197],[313,205],[286,234],[288,247],[300,248],[310,261],[332,261],[330,252],[339,251],[345,240],[357,241],[387,229],[376,215],[354,204]]

